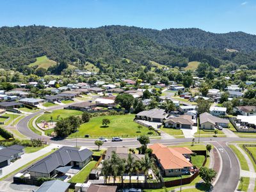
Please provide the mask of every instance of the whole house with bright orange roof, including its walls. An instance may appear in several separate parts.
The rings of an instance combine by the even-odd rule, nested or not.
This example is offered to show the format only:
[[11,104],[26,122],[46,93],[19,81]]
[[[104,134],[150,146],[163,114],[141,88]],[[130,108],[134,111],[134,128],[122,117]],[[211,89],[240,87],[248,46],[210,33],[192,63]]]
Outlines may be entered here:
[[189,148],[168,148],[159,143],[150,145],[149,148],[153,150],[152,154],[166,177],[175,177],[184,173],[190,173],[190,168],[193,164],[190,163],[189,157],[193,152]]

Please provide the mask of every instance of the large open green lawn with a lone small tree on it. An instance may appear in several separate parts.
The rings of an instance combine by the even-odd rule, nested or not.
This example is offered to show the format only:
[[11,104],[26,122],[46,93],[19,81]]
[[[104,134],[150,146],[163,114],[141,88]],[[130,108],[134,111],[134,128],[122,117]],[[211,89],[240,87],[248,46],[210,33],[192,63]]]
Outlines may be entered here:
[[[108,118],[110,124],[108,127],[102,126],[102,119]],[[143,134],[148,134],[148,128],[142,127],[138,132],[138,125],[133,122],[134,115],[112,115],[112,116],[97,116],[90,119],[90,122],[82,124],[79,127],[77,136],[84,137],[84,134],[89,134],[92,137],[98,138],[99,136],[113,137],[122,136],[123,138],[137,137]],[[156,135],[154,132],[153,135]],[[70,135],[70,137],[76,137],[76,133]]]

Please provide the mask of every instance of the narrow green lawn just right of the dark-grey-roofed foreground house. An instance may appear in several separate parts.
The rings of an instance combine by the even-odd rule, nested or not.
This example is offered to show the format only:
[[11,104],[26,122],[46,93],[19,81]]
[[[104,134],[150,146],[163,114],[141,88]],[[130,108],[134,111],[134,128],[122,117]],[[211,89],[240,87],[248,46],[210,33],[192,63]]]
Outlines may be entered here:
[[86,178],[89,176],[96,163],[97,161],[91,161],[90,163],[86,164],[86,166],[84,166],[80,172],[74,175],[74,177],[68,180],[68,182],[83,183],[84,180],[86,180]]

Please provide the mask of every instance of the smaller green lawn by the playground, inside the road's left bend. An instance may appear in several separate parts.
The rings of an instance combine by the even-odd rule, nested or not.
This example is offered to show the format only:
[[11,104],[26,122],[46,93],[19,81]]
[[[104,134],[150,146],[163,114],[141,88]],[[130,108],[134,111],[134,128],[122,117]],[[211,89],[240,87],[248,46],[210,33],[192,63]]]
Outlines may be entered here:
[[[76,110],[70,110],[70,109],[58,109],[52,111],[52,113],[44,113],[44,115],[41,115],[36,120],[36,123],[40,123],[42,120],[45,120],[46,122],[51,121],[51,116],[53,121],[60,120],[61,118],[67,118],[68,116],[76,116],[76,115],[82,115],[82,111],[76,111]],[[59,116],[59,117],[58,117]]]

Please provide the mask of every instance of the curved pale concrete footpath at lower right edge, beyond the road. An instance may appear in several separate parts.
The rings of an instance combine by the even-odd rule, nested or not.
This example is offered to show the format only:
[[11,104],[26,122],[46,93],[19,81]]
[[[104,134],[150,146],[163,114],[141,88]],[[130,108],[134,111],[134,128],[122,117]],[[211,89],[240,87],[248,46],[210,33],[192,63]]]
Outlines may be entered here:
[[[244,158],[247,161],[248,167],[249,167],[249,174],[244,174],[245,171],[240,170],[240,177],[250,177],[250,184],[248,186],[248,192],[253,192],[254,191],[254,186],[255,186],[255,170],[252,164],[251,159],[248,157],[248,154],[246,154],[246,152],[244,152],[244,150],[242,148],[240,148],[238,145],[235,145],[236,148],[241,152],[241,154],[244,156]],[[250,174],[250,173],[255,173],[255,174]],[[244,176],[243,176],[244,175]]]

